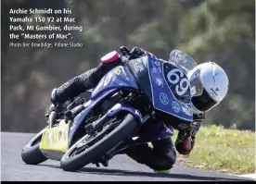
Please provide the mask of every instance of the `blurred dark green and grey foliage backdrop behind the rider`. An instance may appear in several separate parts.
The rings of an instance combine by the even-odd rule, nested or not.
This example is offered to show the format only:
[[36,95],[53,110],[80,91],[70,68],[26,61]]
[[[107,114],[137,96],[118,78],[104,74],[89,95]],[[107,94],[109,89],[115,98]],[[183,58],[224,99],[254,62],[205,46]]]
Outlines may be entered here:
[[[1,4],[2,131],[44,128],[52,89],[96,67],[101,56],[121,45],[142,47],[163,59],[180,49],[198,64],[211,60],[224,67],[228,94],[204,123],[255,129],[254,0],[2,0]],[[8,48],[9,9],[19,7],[70,7],[76,24],[83,26],[83,32],[74,35],[83,48]]]

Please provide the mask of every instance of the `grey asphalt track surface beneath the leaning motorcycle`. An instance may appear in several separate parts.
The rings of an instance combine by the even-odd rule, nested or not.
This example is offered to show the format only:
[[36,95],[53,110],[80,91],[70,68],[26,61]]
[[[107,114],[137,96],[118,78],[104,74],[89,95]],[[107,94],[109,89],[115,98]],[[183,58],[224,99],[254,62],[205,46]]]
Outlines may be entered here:
[[245,181],[233,175],[216,173],[185,166],[173,166],[171,174],[153,173],[147,166],[139,165],[126,155],[117,155],[109,167],[88,165],[77,172],[66,172],[58,161],[45,161],[38,166],[23,163],[20,152],[33,134],[1,132],[2,181]]

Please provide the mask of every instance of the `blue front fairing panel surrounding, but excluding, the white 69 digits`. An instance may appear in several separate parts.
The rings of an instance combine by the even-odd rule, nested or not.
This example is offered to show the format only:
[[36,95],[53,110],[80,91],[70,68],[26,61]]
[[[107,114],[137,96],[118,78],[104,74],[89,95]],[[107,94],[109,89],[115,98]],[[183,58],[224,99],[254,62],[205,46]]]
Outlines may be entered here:
[[[173,117],[178,117],[186,121],[193,121],[190,100],[183,101],[177,99],[177,95],[175,94],[176,86],[179,82],[184,79],[187,80],[186,74],[184,73],[182,78],[179,78],[179,80],[177,79],[177,84],[172,84],[168,81],[169,73],[180,69],[170,63],[163,63],[152,57],[147,57],[147,59],[148,77],[150,79],[154,107]],[[182,70],[180,71],[183,72]],[[185,97],[188,99],[190,98],[189,90],[188,87]],[[183,96],[181,96],[181,99],[183,99]]]

